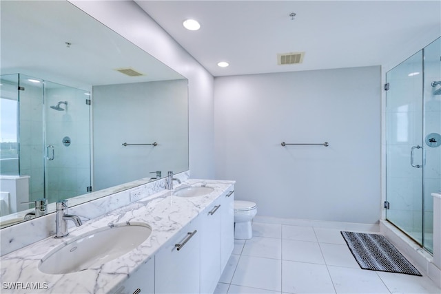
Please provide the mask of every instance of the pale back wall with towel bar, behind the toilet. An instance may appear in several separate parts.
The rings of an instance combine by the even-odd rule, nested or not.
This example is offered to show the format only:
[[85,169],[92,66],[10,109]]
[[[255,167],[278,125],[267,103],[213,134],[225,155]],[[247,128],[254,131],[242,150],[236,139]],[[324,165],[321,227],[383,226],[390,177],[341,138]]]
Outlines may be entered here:
[[216,178],[260,216],[378,222],[380,81],[378,66],[215,78]]

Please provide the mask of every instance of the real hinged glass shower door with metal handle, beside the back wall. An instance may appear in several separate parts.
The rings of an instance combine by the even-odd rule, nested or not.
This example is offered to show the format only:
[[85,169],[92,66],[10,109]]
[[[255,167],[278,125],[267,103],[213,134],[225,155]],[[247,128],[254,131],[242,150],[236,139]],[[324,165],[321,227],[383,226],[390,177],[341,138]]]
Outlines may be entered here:
[[386,74],[387,220],[422,244],[422,50]]

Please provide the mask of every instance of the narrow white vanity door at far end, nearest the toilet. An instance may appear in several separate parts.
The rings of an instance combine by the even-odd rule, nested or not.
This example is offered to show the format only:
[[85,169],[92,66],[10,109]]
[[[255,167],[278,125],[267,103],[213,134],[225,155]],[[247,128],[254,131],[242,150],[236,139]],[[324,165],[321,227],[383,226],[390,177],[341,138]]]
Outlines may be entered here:
[[225,196],[220,197],[222,205],[220,264],[223,271],[234,249],[234,186]]

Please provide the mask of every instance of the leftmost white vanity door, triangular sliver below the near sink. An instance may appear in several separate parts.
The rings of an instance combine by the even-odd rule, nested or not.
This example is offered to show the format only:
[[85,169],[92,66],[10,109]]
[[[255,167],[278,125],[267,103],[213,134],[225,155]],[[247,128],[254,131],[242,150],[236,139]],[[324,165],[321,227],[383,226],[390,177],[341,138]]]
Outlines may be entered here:
[[152,294],[154,293],[154,258],[150,258],[137,271],[131,273],[125,282],[110,291],[114,294]]

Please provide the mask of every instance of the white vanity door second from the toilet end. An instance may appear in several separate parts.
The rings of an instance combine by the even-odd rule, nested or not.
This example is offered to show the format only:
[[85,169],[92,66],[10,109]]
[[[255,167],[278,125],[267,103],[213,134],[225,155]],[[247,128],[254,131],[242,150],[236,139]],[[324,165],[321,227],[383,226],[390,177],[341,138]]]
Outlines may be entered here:
[[201,293],[213,293],[220,278],[221,199],[201,213]]

